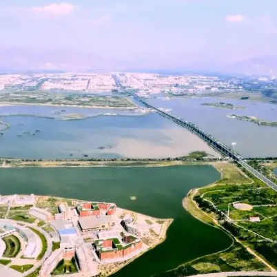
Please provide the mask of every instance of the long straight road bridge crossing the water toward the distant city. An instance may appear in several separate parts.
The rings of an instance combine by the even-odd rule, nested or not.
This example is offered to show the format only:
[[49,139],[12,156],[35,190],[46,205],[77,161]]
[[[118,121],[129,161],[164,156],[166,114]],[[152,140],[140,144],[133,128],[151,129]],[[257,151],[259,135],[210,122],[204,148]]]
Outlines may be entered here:
[[184,119],[181,119],[178,116],[174,116],[170,112],[164,112],[163,110],[159,109],[158,107],[154,107],[153,105],[150,105],[150,103],[147,103],[145,99],[138,96],[135,92],[131,90],[125,89],[119,79],[116,75],[112,75],[112,78],[114,79],[116,85],[121,89],[128,92],[130,95],[134,97],[136,101],[144,105],[145,107],[148,107],[149,109],[155,110],[157,114],[160,114],[161,116],[170,119],[171,121],[174,121],[178,125],[181,125],[182,127],[185,127],[189,132],[192,132],[192,134],[196,134],[196,136],[200,137],[205,143],[207,143],[210,147],[212,147],[214,150],[219,152],[221,155],[236,161],[239,165],[241,165],[245,170],[253,174],[256,178],[258,178],[260,181],[263,181],[266,185],[271,187],[272,189],[276,190],[277,192],[277,185],[269,180],[266,176],[255,170],[253,167],[248,165],[245,161],[245,158],[243,156],[240,156],[232,147],[229,147],[225,145],[224,143],[218,141],[212,134],[208,134],[204,130],[202,130],[200,127],[194,125],[194,123],[191,123],[189,121],[185,121]]

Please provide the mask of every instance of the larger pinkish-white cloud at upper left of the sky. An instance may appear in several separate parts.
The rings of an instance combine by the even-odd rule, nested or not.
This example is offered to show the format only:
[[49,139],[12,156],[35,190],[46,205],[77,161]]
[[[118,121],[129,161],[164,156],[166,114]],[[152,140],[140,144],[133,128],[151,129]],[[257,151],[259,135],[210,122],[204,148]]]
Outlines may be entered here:
[[36,12],[39,14],[50,14],[50,15],[66,15],[71,14],[74,11],[74,6],[70,3],[51,3],[48,6],[43,7],[32,7],[32,12]]

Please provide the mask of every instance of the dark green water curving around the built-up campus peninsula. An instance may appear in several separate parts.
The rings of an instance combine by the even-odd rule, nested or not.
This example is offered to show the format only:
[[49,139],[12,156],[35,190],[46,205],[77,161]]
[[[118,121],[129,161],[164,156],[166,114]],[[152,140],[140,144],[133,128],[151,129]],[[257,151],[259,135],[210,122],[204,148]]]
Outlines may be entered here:
[[209,166],[11,168],[0,169],[0,194],[115,202],[142,214],[174,218],[164,243],[114,274],[148,277],[231,245],[227,234],[196,220],[182,206],[189,189],[219,178]]

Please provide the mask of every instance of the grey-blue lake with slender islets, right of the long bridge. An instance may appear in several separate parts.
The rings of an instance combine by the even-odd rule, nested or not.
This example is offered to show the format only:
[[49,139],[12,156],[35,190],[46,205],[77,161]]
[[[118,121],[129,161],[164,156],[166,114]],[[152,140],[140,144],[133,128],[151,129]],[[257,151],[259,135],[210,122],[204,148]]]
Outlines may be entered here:
[[[277,105],[254,101],[223,98],[147,99],[156,107],[172,109],[172,114],[198,125],[245,157],[277,156],[277,127],[228,119],[227,114],[256,116],[258,119],[277,121]],[[225,102],[245,106],[244,110],[208,107],[201,103]]]

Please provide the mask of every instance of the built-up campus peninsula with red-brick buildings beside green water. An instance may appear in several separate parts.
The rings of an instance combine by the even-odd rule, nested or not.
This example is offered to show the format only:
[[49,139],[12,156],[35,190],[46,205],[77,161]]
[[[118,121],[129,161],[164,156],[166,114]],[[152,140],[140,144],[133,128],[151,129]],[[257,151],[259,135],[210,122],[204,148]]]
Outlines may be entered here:
[[109,276],[162,243],[173,221],[34,194],[0,195],[0,218],[0,271],[14,277]]

